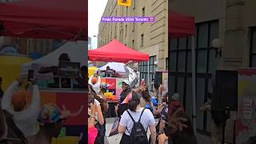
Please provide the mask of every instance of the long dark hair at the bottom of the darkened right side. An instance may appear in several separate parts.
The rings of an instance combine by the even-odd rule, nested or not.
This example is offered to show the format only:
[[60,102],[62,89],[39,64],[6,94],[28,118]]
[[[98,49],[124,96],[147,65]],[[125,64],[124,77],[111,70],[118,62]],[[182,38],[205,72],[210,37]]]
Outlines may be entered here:
[[[184,123],[188,127],[183,128],[182,131],[178,130],[172,135],[174,144],[198,144],[197,138],[194,135],[194,130],[190,118],[187,117],[186,114],[181,114],[179,117],[187,119],[187,122],[182,123]],[[170,118],[168,119],[168,121],[170,122]],[[167,129],[168,130],[166,131],[170,131],[170,126],[167,126]],[[167,135],[170,136],[170,134]]]

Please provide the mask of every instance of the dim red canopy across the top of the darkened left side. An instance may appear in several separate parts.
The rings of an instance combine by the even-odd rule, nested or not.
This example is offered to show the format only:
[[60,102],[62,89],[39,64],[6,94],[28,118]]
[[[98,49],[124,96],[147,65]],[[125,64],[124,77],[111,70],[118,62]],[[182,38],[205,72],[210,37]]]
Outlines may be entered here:
[[0,3],[3,36],[20,38],[87,38],[85,0],[19,0]]

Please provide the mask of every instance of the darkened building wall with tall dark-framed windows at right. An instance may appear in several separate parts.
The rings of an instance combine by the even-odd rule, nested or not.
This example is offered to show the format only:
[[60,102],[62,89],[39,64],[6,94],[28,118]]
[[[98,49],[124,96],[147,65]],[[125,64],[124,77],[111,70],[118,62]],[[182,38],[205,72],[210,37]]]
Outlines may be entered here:
[[[197,129],[207,134],[210,132],[211,116],[198,109],[206,102],[206,94],[213,93],[214,71],[256,66],[256,1],[172,0],[169,8],[195,18]],[[222,54],[216,53],[216,48],[212,46],[214,38],[221,42],[219,49]],[[181,94],[186,112],[192,116],[190,48],[190,37],[170,39],[169,66],[172,80],[169,91]],[[229,140],[232,139],[232,128],[226,131]]]

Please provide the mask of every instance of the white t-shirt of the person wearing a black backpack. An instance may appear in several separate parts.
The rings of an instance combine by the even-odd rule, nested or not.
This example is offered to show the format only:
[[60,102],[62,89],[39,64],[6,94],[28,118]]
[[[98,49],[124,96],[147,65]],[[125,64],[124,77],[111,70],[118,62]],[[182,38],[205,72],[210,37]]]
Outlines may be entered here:
[[[131,116],[134,118],[135,122],[138,122],[138,119],[141,116],[143,109],[144,108],[141,108],[140,110],[138,110],[136,112],[129,110],[129,112],[130,112]],[[155,125],[154,115],[151,113],[150,110],[146,109],[146,110],[144,110],[144,112],[142,114],[142,118],[141,118],[140,122],[142,123],[142,126],[144,127],[144,129],[147,130],[147,128],[149,126]],[[130,135],[131,130],[132,130],[133,126],[134,126],[134,122],[130,118],[130,115],[127,113],[127,111],[125,111],[122,114],[122,117],[121,117],[121,120],[119,122],[119,125],[120,126],[126,126],[127,129],[126,129],[125,133],[126,133],[126,135]],[[127,130],[129,130],[129,132]]]

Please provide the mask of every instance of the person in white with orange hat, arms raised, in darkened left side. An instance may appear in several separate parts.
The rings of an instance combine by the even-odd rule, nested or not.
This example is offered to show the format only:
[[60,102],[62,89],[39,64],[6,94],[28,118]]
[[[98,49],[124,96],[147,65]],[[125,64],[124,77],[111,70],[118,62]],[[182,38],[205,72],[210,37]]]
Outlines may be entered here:
[[25,136],[37,133],[36,121],[40,106],[38,85],[32,82],[32,99],[28,103],[29,93],[20,86],[26,78],[18,78],[6,90],[2,98],[2,109],[14,115],[14,122]]

